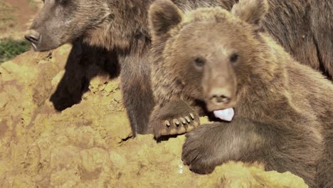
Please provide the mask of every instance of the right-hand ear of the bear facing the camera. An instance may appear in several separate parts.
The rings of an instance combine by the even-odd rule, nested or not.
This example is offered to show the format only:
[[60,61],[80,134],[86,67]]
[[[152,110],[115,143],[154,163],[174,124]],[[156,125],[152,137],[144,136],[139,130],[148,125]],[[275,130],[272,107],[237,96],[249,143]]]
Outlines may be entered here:
[[233,6],[231,14],[243,21],[259,26],[268,13],[267,0],[240,0]]

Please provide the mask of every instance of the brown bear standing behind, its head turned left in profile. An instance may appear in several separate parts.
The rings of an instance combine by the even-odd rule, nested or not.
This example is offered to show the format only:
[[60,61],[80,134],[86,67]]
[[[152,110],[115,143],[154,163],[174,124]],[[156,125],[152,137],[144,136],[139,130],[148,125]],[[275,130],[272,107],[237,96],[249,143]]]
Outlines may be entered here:
[[[121,66],[120,78],[125,107],[134,134],[147,133],[149,114],[154,107],[150,86],[150,43],[147,10],[154,0],[45,0],[26,38],[36,51],[47,51],[80,39],[115,51]],[[230,10],[237,0],[174,0],[183,11],[221,6]],[[270,0],[264,28],[297,60],[333,75],[333,5],[331,0]],[[324,13],[324,14],[323,14]],[[184,117],[193,120],[191,110],[160,117],[162,122]],[[171,118],[169,118],[171,117]],[[195,117],[197,119],[197,117]],[[177,118],[176,118],[177,119]],[[187,121],[186,120],[186,121]],[[175,123],[179,121],[176,120]],[[196,122],[191,122],[195,125]]]

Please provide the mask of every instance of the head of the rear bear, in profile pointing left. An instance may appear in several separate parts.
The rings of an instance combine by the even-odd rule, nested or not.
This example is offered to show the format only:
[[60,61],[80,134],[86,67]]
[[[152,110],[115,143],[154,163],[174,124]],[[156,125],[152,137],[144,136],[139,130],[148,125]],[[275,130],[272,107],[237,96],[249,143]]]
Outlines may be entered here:
[[112,20],[106,1],[43,0],[43,4],[25,35],[35,51],[52,50],[89,36]]

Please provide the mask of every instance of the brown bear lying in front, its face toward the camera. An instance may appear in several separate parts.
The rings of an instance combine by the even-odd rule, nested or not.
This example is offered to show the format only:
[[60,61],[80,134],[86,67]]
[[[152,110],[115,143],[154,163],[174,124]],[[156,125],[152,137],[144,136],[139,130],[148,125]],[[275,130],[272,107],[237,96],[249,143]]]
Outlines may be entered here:
[[169,0],[155,1],[149,26],[157,101],[235,111],[231,122],[187,133],[182,160],[194,172],[258,161],[310,187],[333,187],[333,84],[263,29],[268,7],[266,0],[240,0],[231,11],[184,13]]

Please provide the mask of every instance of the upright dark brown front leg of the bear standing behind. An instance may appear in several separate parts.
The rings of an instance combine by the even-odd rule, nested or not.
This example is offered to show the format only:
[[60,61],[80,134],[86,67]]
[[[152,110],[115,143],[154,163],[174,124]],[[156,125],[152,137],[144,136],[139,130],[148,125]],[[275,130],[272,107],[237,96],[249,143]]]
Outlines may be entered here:
[[122,96],[133,135],[147,134],[149,115],[154,108],[149,58],[142,53],[120,57],[119,61]]

